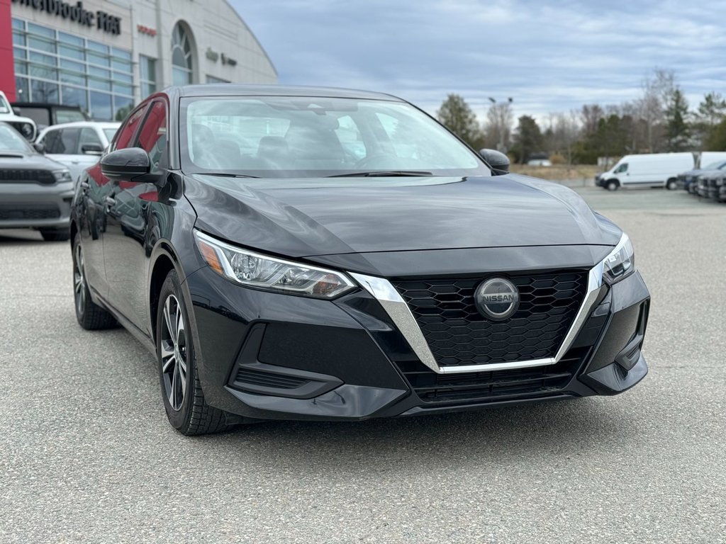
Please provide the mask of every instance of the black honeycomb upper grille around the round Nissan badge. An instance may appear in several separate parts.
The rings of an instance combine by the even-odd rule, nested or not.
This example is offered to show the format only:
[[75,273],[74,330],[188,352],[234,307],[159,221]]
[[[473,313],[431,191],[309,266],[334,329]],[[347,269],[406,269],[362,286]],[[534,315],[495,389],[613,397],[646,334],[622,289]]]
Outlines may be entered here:
[[510,276],[520,305],[506,321],[481,316],[474,290],[483,279],[396,281],[441,366],[553,357],[587,292],[587,273]]

